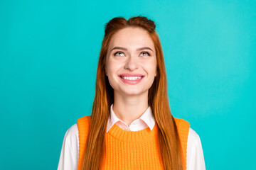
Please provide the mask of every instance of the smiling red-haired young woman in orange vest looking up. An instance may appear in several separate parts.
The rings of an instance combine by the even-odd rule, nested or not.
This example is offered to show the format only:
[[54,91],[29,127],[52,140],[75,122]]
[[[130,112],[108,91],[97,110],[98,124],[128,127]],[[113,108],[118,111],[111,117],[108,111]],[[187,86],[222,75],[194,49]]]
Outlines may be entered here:
[[92,114],[66,133],[58,169],[206,169],[199,136],[171,115],[155,24],[105,25]]

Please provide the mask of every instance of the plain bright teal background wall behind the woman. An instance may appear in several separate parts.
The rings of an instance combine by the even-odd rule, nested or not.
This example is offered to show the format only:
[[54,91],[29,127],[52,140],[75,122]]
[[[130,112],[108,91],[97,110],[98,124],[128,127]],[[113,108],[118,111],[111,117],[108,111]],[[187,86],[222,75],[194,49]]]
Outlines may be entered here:
[[90,115],[104,24],[147,16],[171,112],[201,137],[206,169],[256,169],[256,1],[0,1],[0,169],[57,169]]

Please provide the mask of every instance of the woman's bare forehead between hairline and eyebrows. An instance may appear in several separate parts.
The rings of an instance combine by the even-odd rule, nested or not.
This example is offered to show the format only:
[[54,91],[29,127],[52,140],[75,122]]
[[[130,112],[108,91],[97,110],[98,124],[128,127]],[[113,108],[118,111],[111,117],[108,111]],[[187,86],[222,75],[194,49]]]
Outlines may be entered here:
[[138,47],[151,47],[154,50],[154,42],[149,33],[143,28],[124,28],[117,31],[110,40],[110,47],[127,47],[131,50]]

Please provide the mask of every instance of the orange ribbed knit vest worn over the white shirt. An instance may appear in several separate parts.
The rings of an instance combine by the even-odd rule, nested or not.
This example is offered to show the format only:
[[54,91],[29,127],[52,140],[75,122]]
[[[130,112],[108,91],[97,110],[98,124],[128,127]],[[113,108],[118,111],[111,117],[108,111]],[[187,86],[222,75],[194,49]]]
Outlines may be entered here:
[[[189,123],[183,119],[174,118],[174,120],[178,128],[178,137],[183,151],[181,153],[183,169],[186,170]],[[78,119],[78,170],[82,166],[89,127],[90,115]],[[157,124],[154,125],[153,130],[147,127],[139,131],[123,130],[114,124],[105,134],[106,155],[103,159],[104,166],[102,169],[164,169],[158,149],[158,132]]]

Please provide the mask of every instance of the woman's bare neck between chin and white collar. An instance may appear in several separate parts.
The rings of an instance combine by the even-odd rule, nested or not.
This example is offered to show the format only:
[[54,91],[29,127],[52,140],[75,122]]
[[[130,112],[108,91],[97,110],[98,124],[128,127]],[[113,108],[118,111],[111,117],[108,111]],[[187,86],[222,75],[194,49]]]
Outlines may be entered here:
[[123,96],[114,93],[114,114],[128,126],[141,117],[147,108],[149,108],[148,91],[138,96]]

